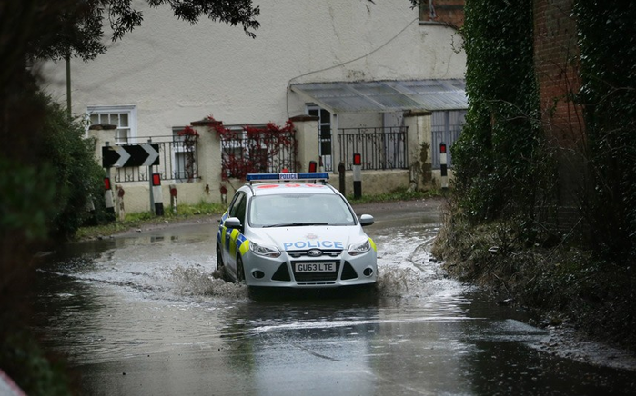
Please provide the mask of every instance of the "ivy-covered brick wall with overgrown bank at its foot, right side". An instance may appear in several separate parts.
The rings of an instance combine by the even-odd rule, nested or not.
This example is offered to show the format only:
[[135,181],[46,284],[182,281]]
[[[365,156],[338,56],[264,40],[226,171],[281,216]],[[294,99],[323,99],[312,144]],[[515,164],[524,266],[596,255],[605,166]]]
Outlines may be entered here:
[[[450,149],[455,190],[433,253],[459,279],[636,351],[636,3],[566,3],[466,2],[469,112]],[[535,32],[541,17],[557,28]],[[557,34],[578,48],[537,56],[536,39],[551,45]],[[558,84],[570,77],[577,84]],[[569,127],[553,118],[559,109],[582,116]],[[575,182],[567,202],[563,180]],[[575,222],[563,227],[563,213]]]

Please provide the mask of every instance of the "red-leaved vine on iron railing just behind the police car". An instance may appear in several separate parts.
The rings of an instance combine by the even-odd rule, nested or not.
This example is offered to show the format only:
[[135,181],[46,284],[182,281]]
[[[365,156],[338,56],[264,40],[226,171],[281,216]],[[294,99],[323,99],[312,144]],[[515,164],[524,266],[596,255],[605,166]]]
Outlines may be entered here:
[[[212,116],[210,121],[216,121]],[[245,179],[247,173],[278,173],[283,168],[297,168],[297,142],[291,120],[285,126],[268,123],[263,127],[244,125],[226,128],[214,123],[212,128],[221,140],[221,178]]]

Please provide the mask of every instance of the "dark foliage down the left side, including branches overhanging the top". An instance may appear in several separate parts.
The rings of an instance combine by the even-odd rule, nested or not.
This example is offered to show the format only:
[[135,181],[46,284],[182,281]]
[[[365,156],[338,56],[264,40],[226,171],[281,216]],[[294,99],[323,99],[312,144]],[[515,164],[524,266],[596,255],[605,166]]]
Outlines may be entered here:
[[[251,0],[146,3],[170,5],[192,24],[207,17],[242,25],[251,37],[258,27]],[[102,171],[84,127],[38,93],[32,64],[94,59],[106,51],[104,25],[116,40],[142,21],[130,0],[0,0],[0,367],[31,395],[72,392],[63,369],[27,330],[36,252],[88,220],[89,200],[104,207]]]

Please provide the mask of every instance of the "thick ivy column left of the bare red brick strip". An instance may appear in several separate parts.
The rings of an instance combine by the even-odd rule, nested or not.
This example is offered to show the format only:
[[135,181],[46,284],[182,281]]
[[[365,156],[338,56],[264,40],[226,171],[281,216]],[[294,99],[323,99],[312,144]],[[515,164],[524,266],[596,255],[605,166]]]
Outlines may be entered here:
[[532,0],[471,0],[465,13],[469,111],[452,147],[456,195],[473,223],[532,219],[542,172]]

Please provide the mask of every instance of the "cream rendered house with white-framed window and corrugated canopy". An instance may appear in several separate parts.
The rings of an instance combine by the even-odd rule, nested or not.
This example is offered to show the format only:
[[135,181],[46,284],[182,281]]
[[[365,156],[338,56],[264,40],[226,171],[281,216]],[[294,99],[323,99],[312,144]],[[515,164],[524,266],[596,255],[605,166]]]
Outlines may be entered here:
[[[420,21],[408,0],[256,4],[256,39],[241,27],[189,25],[167,7],[145,9],[142,26],[109,42],[106,54],[71,60],[73,113],[116,124],[111,144],[172,136],[208,115],[231,126],[313,114],[321,160],[334,171],[346,128],[403,125],[409,111],[433,112],[433,130],[461,122],[461,37]],[[45,75],[47,91],[66,103],[66,64],[47,64]]]

